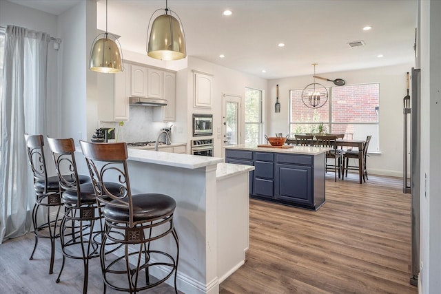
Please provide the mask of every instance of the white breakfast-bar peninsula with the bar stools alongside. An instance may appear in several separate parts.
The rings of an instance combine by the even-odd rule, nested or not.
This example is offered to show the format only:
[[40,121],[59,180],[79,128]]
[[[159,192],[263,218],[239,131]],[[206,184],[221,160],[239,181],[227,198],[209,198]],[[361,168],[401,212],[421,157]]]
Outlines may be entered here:
[[[130,148],[128,154],[132,193],[164,193],[176,200],[178,291],[218,293],[220,282],[245,263],[248,174],[254,167],[225,164],[223,158],[142,149]],[[84,161],[80,155],[77,162]],[[88,173],[85,164],[79,170]],[[171,236],[152,246],[176,252]],[[172,277],[167,283],[172,285]]]

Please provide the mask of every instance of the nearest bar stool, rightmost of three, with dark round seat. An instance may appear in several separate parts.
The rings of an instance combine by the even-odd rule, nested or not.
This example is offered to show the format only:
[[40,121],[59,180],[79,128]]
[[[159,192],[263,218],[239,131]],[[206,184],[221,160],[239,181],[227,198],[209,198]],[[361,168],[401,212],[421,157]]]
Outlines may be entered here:
[[[136,293],[165,282],[174,274],[174,290],[179,258],[178,235],[174,228],[173,214],[176,201],[158,193],[132,195],[127,169],[127,145],[125,143],[88,143],[80,140],[96,198],[105,218],[105,235],[101,242],[101,269],[104,291],[106,286],[118,291]],[[123,185],[119,196],[107,188],[107,180],[116,179]],[[151,248],[151,243],[172,234],[176,242],[176,258],[171,253]],[[104,256],[107,240],[124,244],[121,255]],[[150,271],[163,275],[154,280]],[[125,282],[121,283],[121,276]]]

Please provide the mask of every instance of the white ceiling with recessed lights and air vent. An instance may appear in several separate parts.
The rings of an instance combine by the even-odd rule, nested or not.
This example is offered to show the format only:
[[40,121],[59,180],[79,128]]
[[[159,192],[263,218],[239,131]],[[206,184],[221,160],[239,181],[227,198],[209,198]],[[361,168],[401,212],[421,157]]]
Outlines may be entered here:
[[[10,1],[53,14],[81,2]],[[97,3],[98,28],[105,30],[105,0]],[[121,36],[123,50],[145,54],[149,19],[165,1],[107,5],[108,31]],[[320,75],[414,59],[416,0],[170,0],[168,6],[181,18],[189,56],[263,78],[312,75],[311,63]],[[225,9],[232,16],[224,17]],[[372,30],[363,31],[365,25]],[[352,41],[365,45],[350,48]]]

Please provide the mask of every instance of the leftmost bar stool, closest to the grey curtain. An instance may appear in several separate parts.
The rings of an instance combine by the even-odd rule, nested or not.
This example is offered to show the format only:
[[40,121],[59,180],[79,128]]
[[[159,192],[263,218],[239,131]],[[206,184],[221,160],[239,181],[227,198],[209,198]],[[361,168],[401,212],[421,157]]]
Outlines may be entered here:
[[[32,174],[34,176],[34,191],[35,204],[32,209],[32,224],[34,225],[35,244],[34,250],[30,255],[29,260],[34,258],[35,250],[39,242],[39,238],[47,238],[50,240],[50,266],[49,273],[52,274],[54,270],[54,253],[55,240],[59,238],[57,234],[57,227],[59,226],[59,212],[63,206],[61,202],[61,190],[58,176],[48,177],[46,169],[46,161],[44,156],[44,139],[43,135],[28,135],[25,134],[26,147],[28,149],[28,158]],[[89,177],[81,176],[80,182],[90,181]],[[43,224],[38,224],[37,216],[40,209],[47,209],[46,220]],[[51,211],[56,211],[55,216],[52,216]],[[51,220],[51,218],[54,218]]]

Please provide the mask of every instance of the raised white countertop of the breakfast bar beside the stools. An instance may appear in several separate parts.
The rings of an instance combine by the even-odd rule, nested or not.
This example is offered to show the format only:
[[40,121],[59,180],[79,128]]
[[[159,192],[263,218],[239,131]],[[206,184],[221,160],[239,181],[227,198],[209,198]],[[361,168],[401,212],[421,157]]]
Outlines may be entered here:
[[154,163],[156,165],[168,165],[171,167],[182,167],[184,169],[198,169],[199,167],[217,165],[219,162],[223,162],[223,158],[219,157],[176,154],[134,148],[127,148],[127,151],[129,153],[128,160]]

